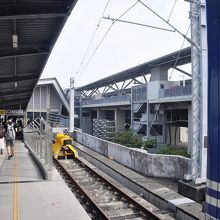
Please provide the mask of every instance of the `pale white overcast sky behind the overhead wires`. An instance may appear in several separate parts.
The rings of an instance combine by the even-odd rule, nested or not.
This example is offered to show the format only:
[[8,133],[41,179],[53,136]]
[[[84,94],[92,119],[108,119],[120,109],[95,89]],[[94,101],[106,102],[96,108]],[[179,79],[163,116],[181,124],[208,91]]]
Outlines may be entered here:
[[[119,21],[112,25],[111,20],[101,19],[107,2],[108,0],[78,0],[52,50],[41,78],[56,77],[61,87],[65,89],[69,87],[70,77],[74,77],[75,86],[83,86],[189,46],[189,43],[176,32]],[[104,16],[118,18],[136,2],[138,1],[110,0]],[[142,0],[142,2],[166,21],[170,17],[170,24],[181,33],[188,33],[190,36],[188,2],[184,0]],[[101,23],[97,28],[100,19]],[[140,2],[120,19],[172,29]],[[85,53],[93,35],[94,39]],[[182,69],[190,71],[189,65]],[[172,69],[169,72],[172,73],[171,80],[183,79],[182,74]]]

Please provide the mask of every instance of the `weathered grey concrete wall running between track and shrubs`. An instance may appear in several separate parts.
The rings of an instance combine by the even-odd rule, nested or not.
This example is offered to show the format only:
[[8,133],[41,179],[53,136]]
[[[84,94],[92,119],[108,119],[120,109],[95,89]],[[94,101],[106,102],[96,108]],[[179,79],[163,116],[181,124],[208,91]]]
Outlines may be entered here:
[[182,156],[149,154],[144,150],[127,148],[78,131],[74,132],[74,137],[80,144],[143,175],[182,179],[190,170],[190,159]]

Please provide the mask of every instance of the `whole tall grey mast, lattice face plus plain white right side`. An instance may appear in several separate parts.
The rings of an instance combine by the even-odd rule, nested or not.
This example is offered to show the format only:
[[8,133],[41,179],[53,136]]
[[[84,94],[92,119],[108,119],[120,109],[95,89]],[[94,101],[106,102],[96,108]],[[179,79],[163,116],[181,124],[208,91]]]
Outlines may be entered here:
[[[204,10],[203,10],[204,9]],[[204,137],[207,136],[207,50],[205,1],[190,3],[192,45],[192,120],[193,146],[191,175],[195,182],[203,182],[206,175],[206,150]],[[205,48],[205,50],[204,50]]]

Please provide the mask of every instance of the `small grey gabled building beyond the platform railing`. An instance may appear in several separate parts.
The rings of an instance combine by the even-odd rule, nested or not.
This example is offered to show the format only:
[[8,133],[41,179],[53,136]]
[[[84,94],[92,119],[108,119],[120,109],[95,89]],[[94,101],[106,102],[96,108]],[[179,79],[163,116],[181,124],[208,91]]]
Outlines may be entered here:
[[34,89],[24,119],[27,122],[37,117],[54,123],[60,120],[64,122],[66,118],[65,123],[68,123],[69,103],[56,78],[40,79]]

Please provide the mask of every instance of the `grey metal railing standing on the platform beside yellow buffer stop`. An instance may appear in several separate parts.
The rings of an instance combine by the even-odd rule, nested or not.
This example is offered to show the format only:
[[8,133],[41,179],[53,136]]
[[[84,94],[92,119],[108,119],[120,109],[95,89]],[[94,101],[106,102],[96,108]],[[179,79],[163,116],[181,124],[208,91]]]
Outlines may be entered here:
[[52,128],[43,118],[36,118],[24,130],[24,143],[34,159],[43,168],[45,179],[50,179],[53,170]]

